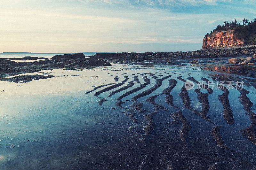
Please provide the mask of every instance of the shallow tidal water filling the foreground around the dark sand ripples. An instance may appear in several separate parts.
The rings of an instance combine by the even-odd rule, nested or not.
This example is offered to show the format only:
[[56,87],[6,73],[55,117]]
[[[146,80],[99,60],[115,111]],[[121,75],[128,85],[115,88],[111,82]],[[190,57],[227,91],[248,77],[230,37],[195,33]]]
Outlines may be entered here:
[[[235,124],[228,124],[223,117],[223,106],[219,95],[223,91],[216,89],[207,95],[209,111],[199,115],[203,108],[197,93],[187,90],[190,99],[188,109],[185,102],[186,94],[181,93],[184,82],[177,77],[188,80],[193,77],[200,81],[202,77],[209,81],[229,79],[244,81],[244,89],[250,93],[246,96],[252,102],[250,108],[255,112],[256,90],[253,74],[244,76],[240,69],[201,68],[197,66],[129,66],[113,64],[113,66],[94,69],[41,71],[55,77],[31,81],[28,83],[13,83],[0,81],[0,167],[1,169],[208,169],[216,163],[222,168],[252,169],[256,166],[256,146],[243,136],[240,129],[251,125],[252,120],[246,114],[241,104],[241,93],[230,89],[228,102]],[[253,69],[249,69],[253,71]],[[246,71],[248,72],[248,71]],[[126,74],[124,74],[126,73]],[[141,75],[141,73],[144,73]],[[151,74],[148,74],[151,73]],[[254,72],[255,73],[255,72]],[[132,75],[134,74],[134,75]],[[154,75],[153,75],[154,74]],[[134,81],[138,75],[140,83]],[[163,75],[163,76],[162,76]],[[162,81],[157,89],[156,80],[168,75],[171,77]],[[118,76],[118,81],[114,80]],[[91,93],[95,86],[109,83],[123,85],[100,93],[108,85]],[[116,106],[116,98],[140,87],[147,76],[150,83],[142,89],[122,98],[124,102]],[[156,76],[154,79],[153,76]],[[175,79],[176,86],[170,92],[174,108],[165,101],[166,94],[162,91],[169,86],[169,80]],[[134,85],[107,97],[111,91],[120,89],[133,81]],[[202,80],[201,80],[202,81]],[[154,91],[150,91],[150,89]],[[196,87],[195,87],[196,89]],[[140,113],[132,108],[136,101],[132,97],[143,94],[137,102],[145,111]],[[200,92],[207,93],[201,89]],[[159,95],[154,102],[162,105],[168,111],[157,109],[156,105],[147,102],[148,97]],[[104,97],[107,101],[99,105]],[[206,99],[204,99],[205,101]],[[134,111],[131,119],[130,110]],[[187,122],[175,120],[174,112],[182,111]],[[156,112],[154,112],[156,111]],[[153,113],[154,114],[150,114]],[[168,123],[172,122],[172,123]],[[190,125],[190,127],[188,126]],[[211,131],[214,126],[220,127],[220,135],[228,149],[220,148],[214,140]],[[132,127],[132,128],[131,128]],[[148,132],[148,133],[146,133]],[[254,131],[255,134],[255,131]]]

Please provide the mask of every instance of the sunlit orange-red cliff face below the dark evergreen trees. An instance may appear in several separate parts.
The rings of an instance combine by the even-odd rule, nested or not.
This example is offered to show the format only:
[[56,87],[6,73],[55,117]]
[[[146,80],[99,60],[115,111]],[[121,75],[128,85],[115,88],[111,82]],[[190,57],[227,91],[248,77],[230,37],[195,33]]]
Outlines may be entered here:
[[212,33],[211,35],[204,37],[203,40],[203,50],[242,45],[244,45],[244,42],[236,38],[234,30]]

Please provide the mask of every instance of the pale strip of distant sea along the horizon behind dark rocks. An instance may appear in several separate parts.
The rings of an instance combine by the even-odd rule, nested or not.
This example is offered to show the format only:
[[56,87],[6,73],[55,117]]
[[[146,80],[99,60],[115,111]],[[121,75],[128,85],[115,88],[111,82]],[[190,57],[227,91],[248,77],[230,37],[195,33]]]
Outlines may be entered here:
[[[0,58],[22,58],[26,56],[30,57],[44,57],[44,58],[52,58],[55,55],[63,55],[68,53],[0,53]],[[93,52],[84,52],[86,56],[92,56],[96,53]]]

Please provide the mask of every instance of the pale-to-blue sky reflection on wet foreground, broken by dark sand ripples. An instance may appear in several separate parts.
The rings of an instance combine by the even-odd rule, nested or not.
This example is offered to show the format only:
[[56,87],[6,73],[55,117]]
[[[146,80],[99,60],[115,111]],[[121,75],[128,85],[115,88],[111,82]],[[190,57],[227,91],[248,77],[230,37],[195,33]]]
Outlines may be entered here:
[[[209,124],[190,111],[185,111],[186,109],[178,95],[184,82],[176,79],[176,77],[182,76],[186,80],[187,77],[192,76],[197,81],[201,77],[206,77],[212,81],[211,74],[224,77],[227,73],[216,74],[215,71],[211,70],[202,72],[199,67],[157,66],[155,68],[149,68],[117,64],[113,64],[110,67],[99,67],[88,70],[54,69],[52,71],[29,73],[50,73],[50,75],[55,76],[50,79],[33,80],[29,83],[21,84],[0,81],[0,87],[4,89],[4,92],[0,92],[0,167],[10,169],[59,169],[61,167],[67,167],[67,165],[73,165],[71,166],[72,168],[81,162],[98,162],[97,155],[102,156],[108,150],[113,150],[113,153],[124,152],[123,155],[127,156],[126,161],[132,161],[128,158],[130,149],[127,143],[136,143],[136,147],[138,148],[141,148],[142,145],[140,142],[132,139],[127,128],[138,124],[132,122],[127,115],[121,113],[123,111],[122,109],[117,109],[115,106],[115,99],[129,89],[106,98],[108,101],[104,102],[103,106],[97,104],[99,99],[93,96],[94,92],[88,95],[85,95],[84,92],[91,90],[94,86],[116,82],[114,80],[116,75],[119,75],[119,82],[124,80],[125,75],[130,75],[128,81],[132,81],[133,76],[139,75],[139,80],[143,83],[142,76],[137,73],[156,73],[156,76],[159,76],[161,74],[165,75],[166,73],[164,72],[172,75],[170,79],[177,80],[177,85],[171,94],[173,95],[173,103],[184,109],[184,116],[191,123],[191,137],[188,138],[188,141],[191,143],[194,140],[200,143],[199,138],[204,133],[205,140],[209,139],[211,141],[212,137],[209,135],[208,128],[211,128],[212,124]],[[123,73],[127,74],[122,75]],[[135,75],[132,75],[133,73]],[[235,75],[229,75],[228,78],[230,77],[235,77]],[[155,80],[152,77],[149,78],[151,84],[137,93],[149,89],[154,85]],[[168,80],[164,80],[163,85],[159,89],[156,89],[154,93],[141,97],[138,100],[143,103],[144,109],[150,112],[153,111],[154,107],[145,102],[145,99],[149,96],[160,94],[168,86]],[[252,103],[255,103],[256,91],[249,86],[250,84],[247,85],[246,89],[251,92],[247,96]],[[139,87],[139,84],[135,82],[134,87]],[[205,93],[206,91],[202,90],[202,92]],[[104,92],[99,96],[106,97],[108,93]],[[228,125],[222,118],[221,112],[223,107],[218,100],[218,95],[221,94],[223,94],[221,90],[214,89],[214,93],[208,96],[210,103],[209,118],[216,122],[216,125],[225,126],[222,129],[222,135],[230,147],[235,149],[236,144],[243,143],[243,146],[239,148],[241,151],[255,151],[252,144],[238,133],[239,129],[246,128],[250,125],[250,119],[244,114],[243,107],[238,100],[240,93],[237,90],[230,90],[229,94],[230,106],[234,111],[233,114],[236,121],[236,124],[232,126]],[[124,98],[126,102],[124,106],[129,107],[132,101],[126,100],[129,100],[134,95]],[[202,106],[196,97],[196,92],[189,90],[188,96],[191,99],[191,106],[200,111]],[[167,133],[168,130],[158,131],[157,129],[167,128],[166,123],[172,120],[170,112],[177,111],[166,104],[164,100],[163,95],[157,97],[155,100],[156,103],[162,104],[169,109],[168,112],[163,111],[154,117],[157,124],[156,131],[160,134]],[[116,109],[111,109],[112,107]],[[255,110],[254,107],[252,107],[253,110]],[[143,114],[137,114],[136,116],[138,123],[143,124]],[[203,130],[200,134],[198,133],[197,127],[201,125],[207,130]],[[141,129],[138,131],[143,132]],[[234,141],[230,138],[229,134],[232,134],[236,138],[237,142],[234,145],[232,144]],[[156,140],[158,137],[156,137]],[[161,140],[158,142],[160,142],[160,146]],[[126,145],[126,147],[122,148],[122,144]],[[209,147],[214,148],[215,144],[212,143]],[[116,152],[114,152],[115,149],[113,148],[116,149]],[[250,148],[249,151],[248,148]],[[144,149],[150,153],[152,148],[144,147]],[[175,150],[175,148],[173,149]],[[179,152],[178,149],[180,150],[177,145],[177,152]],[[106,160],[110,159],[108,154],[106,157]],[[118,161],[118,155],[116,157],[111,157],[111,159]],[[255,155],[252,154],[250,158],[255,158]],[[111,161],[109,164],[112,165]],[[81,164],[81,167],[84,166]],[[93,165],[86,166],[88,168],[95,167]]]

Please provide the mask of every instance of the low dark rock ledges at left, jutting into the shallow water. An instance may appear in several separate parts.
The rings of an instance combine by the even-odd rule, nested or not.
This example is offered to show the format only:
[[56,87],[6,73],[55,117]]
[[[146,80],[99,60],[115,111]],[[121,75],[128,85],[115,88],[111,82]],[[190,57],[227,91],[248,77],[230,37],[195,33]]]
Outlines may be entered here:
[[92,60],[85,58],[83,53],[65,54],[53,56],[51,59],[44,59],[33,62],[15,62],[5,58],[0,58],[0,80],[13,82],[28,82],[31,80],[39,80],[51,78],[53,76],[44,75],[26,75],[16,76],[12,78],[4,78],[7,76],[14,76],[21,73],[34,73],[41,70],[52,70],[56,68],[92,68],[97,66],[111,66],[110,63],[103,60]]

